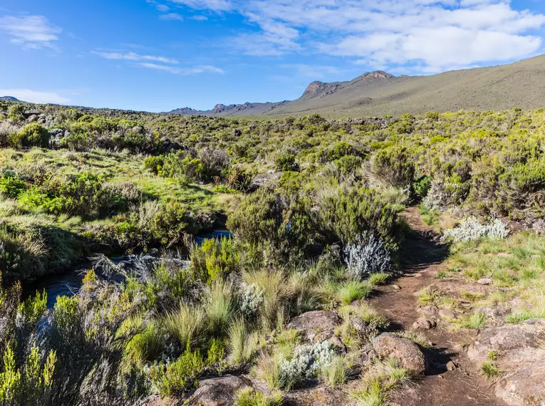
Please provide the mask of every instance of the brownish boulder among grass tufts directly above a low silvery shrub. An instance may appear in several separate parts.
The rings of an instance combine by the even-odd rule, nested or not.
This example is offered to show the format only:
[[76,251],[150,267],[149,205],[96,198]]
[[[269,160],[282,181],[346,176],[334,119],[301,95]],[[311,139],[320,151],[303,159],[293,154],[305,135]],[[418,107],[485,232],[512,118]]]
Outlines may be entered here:
[[303,340],[320,342],[335,335],[335,329],[343,324],[336,311],[309,311],[291,319],[287,328],[301,333]]

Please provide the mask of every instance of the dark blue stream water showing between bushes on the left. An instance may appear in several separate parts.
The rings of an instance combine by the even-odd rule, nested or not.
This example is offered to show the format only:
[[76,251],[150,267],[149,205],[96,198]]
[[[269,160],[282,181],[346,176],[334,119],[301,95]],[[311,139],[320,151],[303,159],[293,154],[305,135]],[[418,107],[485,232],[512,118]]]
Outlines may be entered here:
[[[195,236],[195,242],[202,244],[207,239],[232,238],[227,230],[214,230],[211,233]],[[116,256],[111,258],[115,264],[127,261],[129,256]],[[46,291],[47,307],[53,308],[58,296],[74,296],[83,284],[84,271],[93,267],[91,261],[82,261],[76,269],[66,274],[48,275],[34,281],[23,282],[23,298],[28,298],[34,293]]]

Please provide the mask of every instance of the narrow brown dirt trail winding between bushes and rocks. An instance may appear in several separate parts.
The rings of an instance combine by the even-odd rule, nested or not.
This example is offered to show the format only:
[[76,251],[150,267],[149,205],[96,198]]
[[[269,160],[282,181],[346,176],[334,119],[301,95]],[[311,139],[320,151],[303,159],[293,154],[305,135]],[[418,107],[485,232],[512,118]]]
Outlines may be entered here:
[[[417,292],[435,280],[444,269],[442,261],[447,247],[440,244],[439,236],[422,222],[416,207],[410,207],[403,216],[411,228],[402,249],[403,276],[393,281],[400,286],[383,286],[371,300],[378,311],[390,318],[393,330],[408,330],[419,314]],[[394,396],[391,404],[403,406],[502,406],[492,390],[491,382],[482,378],[466,358],[463,343],[474,337],[472,332],[452,332],[446,323],[432,330],[420,330],[433,344],[427,351],[430,370],[425,378],[408,391]],[[456,370],[448,371],[446,363],[454,361]]]

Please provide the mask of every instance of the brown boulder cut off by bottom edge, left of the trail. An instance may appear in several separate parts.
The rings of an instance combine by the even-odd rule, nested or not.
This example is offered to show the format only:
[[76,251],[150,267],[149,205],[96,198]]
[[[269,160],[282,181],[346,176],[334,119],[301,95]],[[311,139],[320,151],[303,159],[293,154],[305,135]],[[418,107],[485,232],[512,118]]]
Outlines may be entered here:
[[221,378],[202,380],[194,391],[190,404],[195,406],[230,406],[237,390],[251,386],[246,378],[227,375]]

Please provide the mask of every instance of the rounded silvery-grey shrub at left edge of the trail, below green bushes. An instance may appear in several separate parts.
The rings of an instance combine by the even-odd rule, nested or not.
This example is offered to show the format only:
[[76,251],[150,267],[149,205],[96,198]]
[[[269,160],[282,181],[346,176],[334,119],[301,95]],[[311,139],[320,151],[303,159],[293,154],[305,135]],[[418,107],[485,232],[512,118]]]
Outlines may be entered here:
[[384,241],[368,231],[356,236],[355,241],[344,249],[348,274],[363,280],[370,274],[389,271],[392,266],[390,251]]

